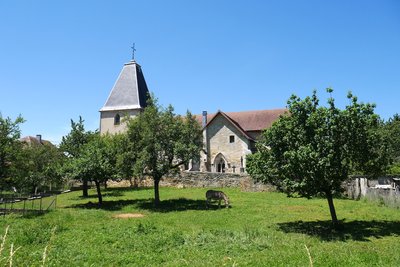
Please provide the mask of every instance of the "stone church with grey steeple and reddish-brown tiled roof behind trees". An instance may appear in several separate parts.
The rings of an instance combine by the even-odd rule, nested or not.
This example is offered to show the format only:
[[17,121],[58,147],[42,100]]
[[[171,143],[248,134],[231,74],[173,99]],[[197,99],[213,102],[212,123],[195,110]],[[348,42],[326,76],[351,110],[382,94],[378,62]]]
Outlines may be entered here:
[[[134,117],[146,107],[149,90],[142,69],[135,60],[126,63],[106,103],[100,109],[100,133],[126,130],[124,116]],[[196,119],[203,129],[204,148],[191,171],[246,172],[246,155],[254,153],[263,129],[284,114],[286,109],[223,112],[203,111]]]

